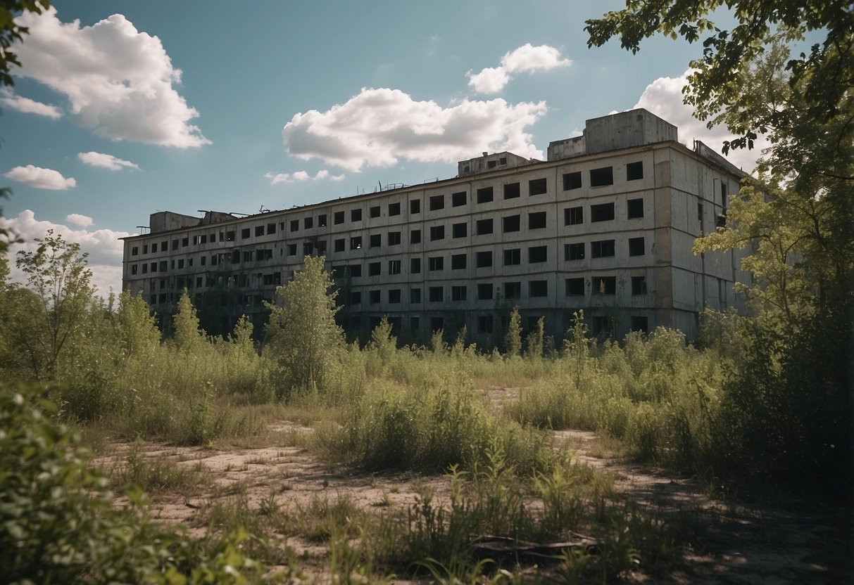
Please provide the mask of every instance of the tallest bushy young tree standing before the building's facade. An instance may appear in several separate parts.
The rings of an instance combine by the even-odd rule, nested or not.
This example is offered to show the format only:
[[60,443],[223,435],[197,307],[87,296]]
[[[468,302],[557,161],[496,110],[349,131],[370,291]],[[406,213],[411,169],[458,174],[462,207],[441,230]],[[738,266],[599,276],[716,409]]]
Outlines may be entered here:
[[276,289],[276,303],[268,304],[267,350],[290,374],[292,385],[323,386],[324,377],[344,345],[344,332],[335,322],[337,291],[324,269],[325,258],[305,258],[305,268],[294,280]]

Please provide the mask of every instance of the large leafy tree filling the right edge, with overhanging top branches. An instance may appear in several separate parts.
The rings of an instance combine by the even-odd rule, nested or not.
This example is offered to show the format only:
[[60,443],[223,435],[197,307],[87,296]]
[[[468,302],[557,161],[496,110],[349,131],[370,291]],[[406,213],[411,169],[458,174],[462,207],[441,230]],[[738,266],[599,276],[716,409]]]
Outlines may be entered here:
[[[724,4],[732,31],[707,18]],[[748,247],[743,287],[757,317],[724,388],[716,472],[839,494],[851,484],[854,283],[854,13],[841,0],[648,0],[588,20],[588,43],[637,51],[658,32],[705,38],[683,89],[695,116],[726,125],[728,148],[770,142],[724,228],[694,252]],[[809,54],[787,44],[822,34]],[[723,473],[722,473],[723,474]],[[850,496],[850,493],[845,492]]]

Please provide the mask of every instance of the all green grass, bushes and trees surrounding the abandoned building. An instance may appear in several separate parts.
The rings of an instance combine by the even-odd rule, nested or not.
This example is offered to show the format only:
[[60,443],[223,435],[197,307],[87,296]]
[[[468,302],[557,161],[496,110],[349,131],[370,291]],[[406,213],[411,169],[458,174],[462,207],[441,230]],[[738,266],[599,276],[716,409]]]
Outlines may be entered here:
[[[558,350],[541,323],[523,339],[514,308],[503,355],[466,345],[465,330],[453,345],[440,331],[429,346],[399,347],[387,321],[360,347],[335,325],[324,259],[306,258],[269,307],[263,345],[247,319],[227,339],[208,336],[188,296],[173,335],[161,339],[140,298],[97,298],[85,254],[48,232],[17,258],[26,287],[9,281],[0,253],[3,579],[297,577],[297,559],[266,537],[271,531],[327,544],[335,582],[388,582],[395,573],[608,582],[637,568],[666,570],[702,546],[699,513],[623,501],[610,478],[553,443],[556,429],[595,431],[636,460],[702,478],[716,494],[850,498],[850,6],[734,2],[730,36],[706,18],[719,4],[630,3],[589,21],[588,32],[591,44],[620,36],[637,50],[656,32],[693,41],[714,31],[692,63],[687,101],[738,136],[728,148],[751,146],[757,132],[772,148],[733,198],[726,227],[695,252],[752,246],[743,268],[755,281],[741,292],[753,316],[707,312],[693,346],[663,328],[597,345],[579,315]],[[17,64],[5,49],[26,32],[9,23],[0,85]],[[816,30],[825,42],[790,59],[781,41]],[[0,236],[4,252],[12,235]],[[518,387],[518,400],[489,404],[478,391],[489,383]],[[107,478],[69,430],[213,446],[263,440],[267,421],[283,412],[313,424],[307,444],[330,463],[448,472],[449,501],[424,490],[403,517],[366,513],[346,496],[292,509],[273,494],[257,508],[238,495],[205,511],[207,537],[190,538],[149,520],[140,486],[180,491],[201,475],[132,449],[112,470],[115,484],[130,484],[130,506],[114,507]],[[473,546],[487,534],[518,543],[576,531],[593,536],[595,549],[567,548],[542,572],[518,568],[518,558],[478,558]],[[267,573],[253,558],[286,570]]]

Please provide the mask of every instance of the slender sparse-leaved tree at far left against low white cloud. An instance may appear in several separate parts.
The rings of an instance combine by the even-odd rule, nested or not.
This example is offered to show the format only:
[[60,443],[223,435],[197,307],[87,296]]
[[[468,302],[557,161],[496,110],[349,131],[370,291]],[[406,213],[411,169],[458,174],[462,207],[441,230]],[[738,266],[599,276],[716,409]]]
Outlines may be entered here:
[[15,264],[26,275],[26,285],[35,293],[37,304],[27,301],[25,327],[32,334],[20,341],[21,349],[31,356],[36,379],[51,379],[64,350],[80,341],[86,311],[91,304],[91,270],[86,252],[49,229],[44,238],[36,238],[35,252],[21,250]]

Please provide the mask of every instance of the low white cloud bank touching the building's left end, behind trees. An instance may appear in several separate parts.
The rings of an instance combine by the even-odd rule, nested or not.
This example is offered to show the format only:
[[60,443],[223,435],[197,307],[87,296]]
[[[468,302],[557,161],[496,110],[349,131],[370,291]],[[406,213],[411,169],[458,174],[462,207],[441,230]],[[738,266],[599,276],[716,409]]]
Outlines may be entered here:
[[48,229],[53,229],[54,234],[61,235],[64,240],[79,244],[82,252],[89,252],[89,269],[92,271],[91,282],[97,287],[98,294],[106,296],[110,287],[116,293],[121,290],[123,246],[119,238],[131,235],[128,232],[113,229],[91,231],[74,229],[61,223],[38,220],[35,213],[29,209],[21,211],[17,217],[0,217],[0,227],[10,229],[24,240],[23,244],[14,244],[9,247],[10,277],[13,281],[26,283],[26,275],[15,267],[16,252],[19,250],[35,252],[38,247],[35,239],[43,238]]

